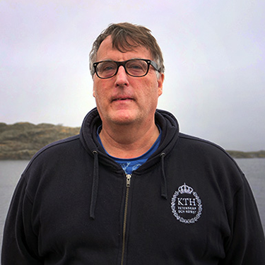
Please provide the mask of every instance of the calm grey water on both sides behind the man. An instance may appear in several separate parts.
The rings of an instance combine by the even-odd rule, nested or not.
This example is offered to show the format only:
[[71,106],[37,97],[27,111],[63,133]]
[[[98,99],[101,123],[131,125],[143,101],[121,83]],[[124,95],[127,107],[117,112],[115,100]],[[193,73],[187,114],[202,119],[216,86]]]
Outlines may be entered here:
[[[265,231],[265,158],[235,159],[252,188]],[[11,196],[28,160],[0,160],[0,247]]]

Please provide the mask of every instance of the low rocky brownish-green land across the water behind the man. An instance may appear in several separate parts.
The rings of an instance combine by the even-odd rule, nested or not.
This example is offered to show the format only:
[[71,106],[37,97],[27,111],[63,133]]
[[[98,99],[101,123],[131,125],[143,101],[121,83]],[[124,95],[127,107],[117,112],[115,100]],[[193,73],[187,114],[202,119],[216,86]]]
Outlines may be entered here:
[[[0,160],[30,160],[48,143],[79,134],[79,127],[53,124],[0,123]],[[233,158],[265,158],[265,151],[228,151]]]

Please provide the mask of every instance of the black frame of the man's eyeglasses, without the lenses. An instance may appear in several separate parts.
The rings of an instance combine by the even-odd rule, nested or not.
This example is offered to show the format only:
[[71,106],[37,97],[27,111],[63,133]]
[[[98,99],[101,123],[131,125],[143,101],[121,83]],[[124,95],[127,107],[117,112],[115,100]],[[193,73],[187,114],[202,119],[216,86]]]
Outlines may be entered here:
[[[126,63],[128,61],[135,61],[135,60],[141,60],[141,61],[146,61],[147,63],[147,70],[146,70],[146,73],[143,74],[142,76],[134,76],[132,75],[131,73],[128,73],[127,69],[126,69]],[[106,60],[107,61],[112,61],[112,60]],[[150,65],[153,66],[153,68],[155,69],[155,71],[158,71],[158,73],[160,73],[160,69],[158,68],[158,64],[155,63],[155,61],[152,61],[152,60],[149,60],[149,59],[129,59],[129,60],[126,60],[126,61],[112,61],[114,62],[115,64],[117,64],[117,70],[116,72],[112,75],[112,76],[108,76],[108,77],[100,77],[98,75],[98,71],[97,71],[97,66],[98,64],[102,63],[102,62],[105,62],[105,61],[97,61],[93,64],[93,67],[94,67],[94,73],[96,73],[96,75],[98,76],[98,78],[100,79],[108,79],[108,78],[112,78],[113,76],[116,76],[117,75],[117,72],[119,71],[119,66],[123,66],[124,67],[124,70],[125,72],[129,75],[129,76],[133,76],[133,77],[143,77],[143,76],[146,76],[148,74],[148,71],[149,71],[149,68],[150,68]]]

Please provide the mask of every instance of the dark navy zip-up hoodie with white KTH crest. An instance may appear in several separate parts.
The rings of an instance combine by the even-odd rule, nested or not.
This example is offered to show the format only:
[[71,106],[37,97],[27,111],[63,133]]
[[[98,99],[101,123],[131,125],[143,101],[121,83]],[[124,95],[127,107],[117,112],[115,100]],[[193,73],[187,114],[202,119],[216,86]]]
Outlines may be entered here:
[[20,177],[2,265],[265,264],[264,232],[240,168],[213,143],[179,133],[157,110],[157,151],[132,175],[81,133],[42,148]]

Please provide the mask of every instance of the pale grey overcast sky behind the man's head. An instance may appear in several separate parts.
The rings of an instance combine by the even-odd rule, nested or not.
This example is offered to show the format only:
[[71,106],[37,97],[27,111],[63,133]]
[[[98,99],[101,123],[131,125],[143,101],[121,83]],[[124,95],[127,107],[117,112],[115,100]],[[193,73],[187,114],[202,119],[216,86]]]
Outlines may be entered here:
[[265,150],[265,1],[0,0],[0,122],[81,126],[95,107],[88,53],[110,23],[163,50],[158,108],[225,149]]

